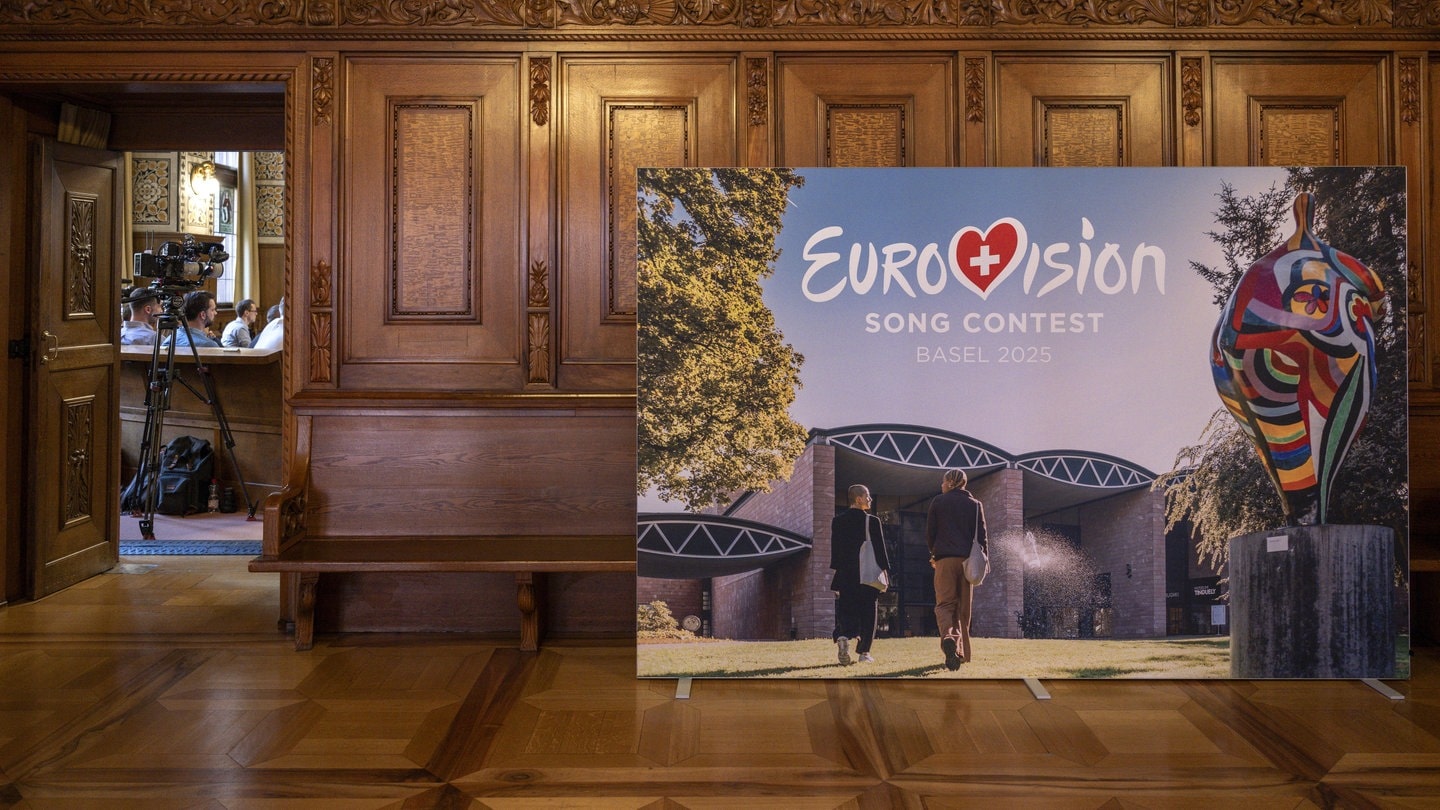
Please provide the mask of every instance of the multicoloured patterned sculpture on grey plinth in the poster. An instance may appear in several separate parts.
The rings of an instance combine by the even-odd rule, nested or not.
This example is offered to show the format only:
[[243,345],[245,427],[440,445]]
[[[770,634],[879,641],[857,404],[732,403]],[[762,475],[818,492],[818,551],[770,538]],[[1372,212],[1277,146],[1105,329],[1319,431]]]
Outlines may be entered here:
[[1315,238],[1310,195],[1295,233],[1230,294],[1210,365],[1225,408],[1260,453],[1293,526],[1328,522],[1331,486],[1375,393],[1374,320],[1385,288]]

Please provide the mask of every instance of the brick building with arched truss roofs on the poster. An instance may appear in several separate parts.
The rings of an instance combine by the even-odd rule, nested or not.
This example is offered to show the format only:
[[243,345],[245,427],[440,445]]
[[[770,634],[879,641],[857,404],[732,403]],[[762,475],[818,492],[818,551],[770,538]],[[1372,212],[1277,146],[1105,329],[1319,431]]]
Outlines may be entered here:
[[1191,615],[1214,615],[1208,604],[1189,605],[1200,598],[1191,581],[1214,572],[1168,559],[1166,548],[1169,558],[1194,549],[1188,536],[1166,543],[1153,473],[1096,453],[1012,455],[914,425],[816,430],[791,479],[769,493],[749,493],[720,516],[641,515],[638,601],[665,601],[707,636],[828,637],[829,522],[845,490],[863,483],[886,525],[894,575],[880,634],[933,636],[924,515],[950,467],[969,474],[991,536],[975,634],[1153,638],[1221,628],[1191,626]]

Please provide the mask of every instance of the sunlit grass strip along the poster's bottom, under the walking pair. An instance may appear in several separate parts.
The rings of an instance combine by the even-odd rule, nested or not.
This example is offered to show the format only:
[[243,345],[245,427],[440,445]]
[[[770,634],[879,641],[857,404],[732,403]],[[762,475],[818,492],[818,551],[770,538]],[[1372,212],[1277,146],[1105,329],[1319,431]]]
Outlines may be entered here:
[[1225,637],[975,638],[972,660],[945,669],[939,638],[877,638],[876,663],[835,662],[827,638],[642,643],[641,677],[1230,677]]

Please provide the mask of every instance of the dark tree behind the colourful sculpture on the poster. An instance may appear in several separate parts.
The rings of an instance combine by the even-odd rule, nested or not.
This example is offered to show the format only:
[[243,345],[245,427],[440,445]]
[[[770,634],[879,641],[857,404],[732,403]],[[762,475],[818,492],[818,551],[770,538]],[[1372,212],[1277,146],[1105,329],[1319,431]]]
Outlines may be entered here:
[[[1315,235],[1375,271],[1388,303],[1375,321],[1375,366],[1380,385],[1365,427],[1346,454],[1332,487],[1336,522],[1381,525],[1405,536],[1405,186],[1404,174],[1375,169],[1292,169],[1283,189],[1238,197],[1228,183],[1220,190],[1215,222],[1207,233],[1223,248],[1224,267],[1191,262],[1224,304],[1240,275],[1270,252],[1289,231],[1290,206],[1300,192],[1315,195]],[[1166,491],[1168,528],[1189,520],[1200,558],[1220,568],[1227,540],[1284,525],[1280,497],[1230,414],[1220,408],[1197,444],[1184,447],[1175,468],[1161,476]]]

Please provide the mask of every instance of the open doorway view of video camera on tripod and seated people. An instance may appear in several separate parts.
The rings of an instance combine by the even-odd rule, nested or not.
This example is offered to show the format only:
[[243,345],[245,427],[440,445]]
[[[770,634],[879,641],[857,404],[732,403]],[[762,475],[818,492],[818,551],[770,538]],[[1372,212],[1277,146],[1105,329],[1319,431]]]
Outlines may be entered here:
[[284,153],[125,163],[120,552],[259,553],[281,480]]

